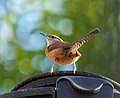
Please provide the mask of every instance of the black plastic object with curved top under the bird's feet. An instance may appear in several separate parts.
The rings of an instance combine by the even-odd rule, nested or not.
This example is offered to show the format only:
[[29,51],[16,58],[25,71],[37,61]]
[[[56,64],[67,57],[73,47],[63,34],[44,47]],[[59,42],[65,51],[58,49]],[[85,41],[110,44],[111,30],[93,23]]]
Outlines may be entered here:
[[38,74],[0,98],[120,98],[120,84],[88,72]]

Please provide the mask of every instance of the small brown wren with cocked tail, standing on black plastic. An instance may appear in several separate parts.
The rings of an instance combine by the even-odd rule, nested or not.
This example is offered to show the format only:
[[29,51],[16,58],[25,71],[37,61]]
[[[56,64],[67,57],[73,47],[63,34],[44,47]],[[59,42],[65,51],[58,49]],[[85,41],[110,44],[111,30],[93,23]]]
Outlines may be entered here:
[[86,36],[82,37],[80,40],[68,43],[63,41],[60,37],[56,35],[46,35],[40,33],[46,38],[47,48],[46,48],[46,56],[53,62],[52,67],[50,68],[50,72],[53,72],[54,63],[58,65],[65,66],[67,64],[74,64],[74,70],[76,71],[75,62],[81,57],[78,49],[88,40],[90,40],[93,36],[99,33],[99,29],[95,28],[91,32],[89,32]]

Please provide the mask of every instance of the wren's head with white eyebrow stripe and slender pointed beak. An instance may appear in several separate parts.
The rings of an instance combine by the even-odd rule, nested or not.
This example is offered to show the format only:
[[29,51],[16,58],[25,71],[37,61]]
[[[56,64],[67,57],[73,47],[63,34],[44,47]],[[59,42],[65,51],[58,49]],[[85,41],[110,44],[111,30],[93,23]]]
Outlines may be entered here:
[[47,41],[47,46],[49,46],[55,42],[63,42],[63,40],[56,35],[44,34],[44,33],[40,33],[40,34],[45,37],[45,39]]

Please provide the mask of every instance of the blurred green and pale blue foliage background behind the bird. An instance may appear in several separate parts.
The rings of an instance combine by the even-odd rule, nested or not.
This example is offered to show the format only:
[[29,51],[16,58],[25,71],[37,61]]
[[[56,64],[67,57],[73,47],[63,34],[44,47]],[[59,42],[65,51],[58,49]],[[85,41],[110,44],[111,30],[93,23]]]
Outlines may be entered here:
[[72,42],[95,27],[101,33],[79,49],[77,69],[120,83],[120,0],[0,0],[0,94],[49,71],[52,62],[39,32]]

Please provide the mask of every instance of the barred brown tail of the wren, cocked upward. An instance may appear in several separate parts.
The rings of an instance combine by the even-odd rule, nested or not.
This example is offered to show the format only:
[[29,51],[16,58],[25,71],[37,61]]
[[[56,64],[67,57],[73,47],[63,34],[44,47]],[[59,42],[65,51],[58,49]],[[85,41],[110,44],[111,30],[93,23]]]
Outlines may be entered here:
[[86,36],[82,37],[79,41],[73,42],[73,48],[74,49],[80,48],[86,41],[89,41],[99,32],[100,32],[99,28],[93,29]]

